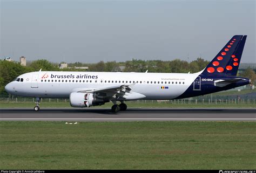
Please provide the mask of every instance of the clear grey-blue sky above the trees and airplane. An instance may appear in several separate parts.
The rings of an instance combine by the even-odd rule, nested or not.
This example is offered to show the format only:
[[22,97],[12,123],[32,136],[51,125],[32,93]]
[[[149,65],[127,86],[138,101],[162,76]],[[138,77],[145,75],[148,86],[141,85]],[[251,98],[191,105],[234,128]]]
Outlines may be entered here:
[[254,0],[0,0],[0,58],[210,61],[246,34],[241,63],[256,63],[255,9]]

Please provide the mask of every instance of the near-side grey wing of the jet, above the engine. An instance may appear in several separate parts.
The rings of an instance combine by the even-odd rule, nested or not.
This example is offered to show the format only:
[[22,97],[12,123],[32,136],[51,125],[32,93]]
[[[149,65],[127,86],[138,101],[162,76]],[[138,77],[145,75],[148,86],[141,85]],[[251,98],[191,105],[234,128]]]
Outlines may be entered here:
[[134,84],[117,85],[103,88],[76,88],[73,92],[96,93],[97,98],[109,100],[137,100],[146,96],[137,92],[132,92]]

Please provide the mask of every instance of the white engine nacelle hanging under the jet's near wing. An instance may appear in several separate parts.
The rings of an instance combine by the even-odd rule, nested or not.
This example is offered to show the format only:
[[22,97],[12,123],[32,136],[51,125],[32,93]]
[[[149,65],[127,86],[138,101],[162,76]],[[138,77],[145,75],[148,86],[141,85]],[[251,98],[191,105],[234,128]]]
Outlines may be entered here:
[[100,99],[96,97],[95,93],[70,93],[69,96],[70,105],[72,107],[90,107],[90,106],[98,106],[104,105],[107,102],[104,99]]

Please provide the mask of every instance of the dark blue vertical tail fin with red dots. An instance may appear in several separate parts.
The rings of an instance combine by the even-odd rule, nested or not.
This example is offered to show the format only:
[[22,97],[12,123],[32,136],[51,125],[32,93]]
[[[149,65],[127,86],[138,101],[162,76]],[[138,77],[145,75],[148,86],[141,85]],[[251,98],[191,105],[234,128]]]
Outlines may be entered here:
[[233,36],[201,74],[237,75],[246,37]]

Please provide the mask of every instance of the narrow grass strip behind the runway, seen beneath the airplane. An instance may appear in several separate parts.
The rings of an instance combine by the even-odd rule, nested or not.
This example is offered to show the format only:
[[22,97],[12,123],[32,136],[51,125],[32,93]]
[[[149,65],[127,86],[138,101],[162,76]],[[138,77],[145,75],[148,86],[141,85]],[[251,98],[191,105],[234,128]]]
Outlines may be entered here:
[[[217,104],[215,102],[208,103],[169,103],[169,102],[157,102],[157,101],[147,101],[146,103],[140,102],[140,101],[126,101],[128,108],[255,108],[256,103],[255,102],[244,102],[244,103],[220,103],[219,101]],[[96,107],[102,107],[102,108],[111,108],[113,103],[105,103],[105,105],[102,106],[96,106]],[[36,104],[33,102],[0,102],[0,108],[33,108]],[[40,104],[41,108],[70,108],[69,102],[42,102]],[[93,107],[92,107],[93,108]]]

